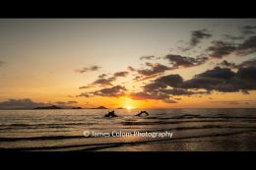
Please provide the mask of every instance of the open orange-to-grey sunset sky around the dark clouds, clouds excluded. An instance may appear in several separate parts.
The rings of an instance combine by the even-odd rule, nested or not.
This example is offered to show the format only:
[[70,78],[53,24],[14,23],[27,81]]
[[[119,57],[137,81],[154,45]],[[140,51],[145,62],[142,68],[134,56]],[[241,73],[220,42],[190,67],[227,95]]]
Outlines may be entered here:
[[[255,53],[241,57],[231,52],[221,58],[211,58],[212,51],[206,50],[213,46],[214,41],[223,40],[224,34],[243,35],[241,28],[244,26],[256,26],[256,20],[1,19],[0,102],[11,98],[30,98],[33,102],[51,104],[75,101],[70,105],[82,107],[255,107],[254,90],[249,90],[249,94],[240,90],[213,90],[211,94],[170,95],[170,99],[176,103],[162,99],[136,100],[130,95],[143,91],[144,85],[154,83],[162,76],[178,74],[185,82],[207,70],[213,70],[224,60],[237,65],[253,60]],[[193,36],[195,30],[200,32],[194,32]],[[250,30],[254,31],[253,27]],[[253,33],[245,34],[244,39],[235,42],[242,43],[253,36]],[[194,39],[194,46],[190,47],[193,38],[197,39]],[[190,49],[182,50],[186,47]],[[208,59],[193,67],[180,65],[173,69],[173,63],[164,59],[168,54],[187,58],[202,57],[204,54]],[[147,56],[155,57],[141,58]],[[94,70],[93,66],[98,68]],[[129,66],[135,71],[129,70]],[[86,71],[82,73],[83,69]],[[152,79],[146,76],[158,71],[160,74],[153,75]],[[236,73],[237,69],[232,68],[231,71]],[[127,72],[127,75],[115,77],[114,74],[119,72]],[[102,74],[106,75],[103,79],[114,79],[111,85],[94,84]],[[135,81],[136,76],[145,80]],[[91,87],[80,88],[85,85]],[[100,96],[106,95],[100,93],[101,89],[116,85],[125,87],[125,94]],[[188,90],[193,91],[192,88]],[[92,96],[79,96],[83,92]]]

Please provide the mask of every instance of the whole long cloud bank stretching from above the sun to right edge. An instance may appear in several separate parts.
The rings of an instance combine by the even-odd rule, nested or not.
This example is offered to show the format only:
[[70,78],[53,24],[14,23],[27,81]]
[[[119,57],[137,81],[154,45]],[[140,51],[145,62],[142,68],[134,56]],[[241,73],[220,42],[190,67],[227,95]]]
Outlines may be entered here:
[[229,68],[216,67],[205,71],[194,78],[184,81],[179,75],[162,76],[148,85],[142,91],[133,92],[133,99],[157,99],[164,102],[174,101],[176,95],[210,94],[213,90],[220,92],[241,91],[248,94],[248,90],[256,89],[256,67],[238,68],[237,72]]

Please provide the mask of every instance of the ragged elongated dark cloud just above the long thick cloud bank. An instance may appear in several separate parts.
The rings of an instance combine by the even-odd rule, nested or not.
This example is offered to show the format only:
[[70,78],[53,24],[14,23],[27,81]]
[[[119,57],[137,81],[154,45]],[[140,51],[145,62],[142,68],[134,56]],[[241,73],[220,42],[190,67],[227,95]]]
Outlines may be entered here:
[[192,58],[192,57],[186,57],[186,56],[174,55],[174,54],[168,54],[163,58],[167,59],[170,62],[170,64],[173,65],[173,69],[178,68],[179,66],[182,66],[182,67],[199,66],[208,60],[207,57]]

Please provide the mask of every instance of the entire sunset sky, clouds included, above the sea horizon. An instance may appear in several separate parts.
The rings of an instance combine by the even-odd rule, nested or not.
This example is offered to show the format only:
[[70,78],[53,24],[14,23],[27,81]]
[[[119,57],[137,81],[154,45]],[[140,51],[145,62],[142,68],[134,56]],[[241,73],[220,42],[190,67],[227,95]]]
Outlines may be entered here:
[[256,106],[256,19],[1,19],[0,108]]

